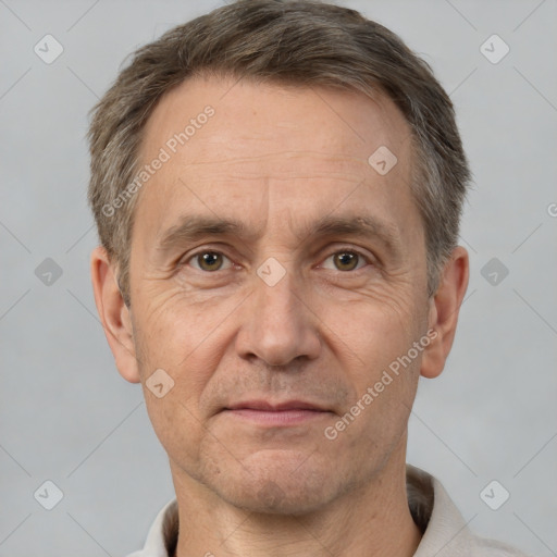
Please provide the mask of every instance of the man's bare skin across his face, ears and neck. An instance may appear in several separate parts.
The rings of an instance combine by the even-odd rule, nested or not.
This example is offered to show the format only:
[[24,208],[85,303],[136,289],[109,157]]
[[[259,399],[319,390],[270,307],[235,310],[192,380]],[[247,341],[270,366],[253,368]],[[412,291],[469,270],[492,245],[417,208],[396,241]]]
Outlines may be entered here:
[[[137,199],[131,308],[114,262],[101,247],[91,256],[117,369],[141,382],[169,455],[176,555],[413,555],[421,534],[406,494],[408,417],[420,374],[443,371],[468,255],[454,250],[428,297],[410,131],[385,97],[196,77],[157,106],[143,161],[207,104],[214,116]],[[398,159],[384,176],[368,163],[380,146]],[[194,214],[234,218],[252,234],[181,237],[162,249],[168,231]],[[372,218],[389,240],[308,235],[326,215]],[[219,253],[202,267],[191,257],[200,251]],[[274,286],[257,274],[268,258],[285,271]],[[327,438],[325,428],[431,329],[435,339]],[[157,369],[174,381],[162,398],[146,386]],[[327,412],[269,426],[222,411],[247,399],[302,399]]]

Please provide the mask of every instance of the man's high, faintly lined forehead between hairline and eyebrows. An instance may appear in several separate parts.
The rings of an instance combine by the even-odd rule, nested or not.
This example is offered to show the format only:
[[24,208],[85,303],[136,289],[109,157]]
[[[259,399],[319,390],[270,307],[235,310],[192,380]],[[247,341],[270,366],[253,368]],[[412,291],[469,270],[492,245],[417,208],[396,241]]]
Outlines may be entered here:
[[[381,175],[369,158],[385,147],[396,164]],[[136,209],[156,232],[193,206],[256,216],[264,203],[288,219],[339,203],[411,209],[410,129],[379,94],[190,78],[162,97],[144,129],[141,164],[162,152]]]

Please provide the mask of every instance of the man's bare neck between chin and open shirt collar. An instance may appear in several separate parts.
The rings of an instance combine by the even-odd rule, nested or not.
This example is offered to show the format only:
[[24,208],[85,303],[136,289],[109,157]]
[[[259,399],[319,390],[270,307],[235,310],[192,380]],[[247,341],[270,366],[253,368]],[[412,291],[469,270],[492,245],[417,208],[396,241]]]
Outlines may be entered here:
[[406,444],[398,453],[366,485],[300,516],[231,506],[171,461],[180,509],[175,556],[411,557],[421,532],[408,507]]

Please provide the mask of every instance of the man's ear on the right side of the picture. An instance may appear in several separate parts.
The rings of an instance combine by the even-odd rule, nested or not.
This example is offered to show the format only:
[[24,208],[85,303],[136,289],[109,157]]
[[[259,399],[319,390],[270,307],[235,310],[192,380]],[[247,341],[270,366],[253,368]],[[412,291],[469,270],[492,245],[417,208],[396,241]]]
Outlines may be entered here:
[[445,367],[455,339],[469,274],[468,251],[458,246],[443,269],[437,292],[430,299],[429,330],[434,330],[437,335],[423,351],[420,373],[424,377],[436,377]]

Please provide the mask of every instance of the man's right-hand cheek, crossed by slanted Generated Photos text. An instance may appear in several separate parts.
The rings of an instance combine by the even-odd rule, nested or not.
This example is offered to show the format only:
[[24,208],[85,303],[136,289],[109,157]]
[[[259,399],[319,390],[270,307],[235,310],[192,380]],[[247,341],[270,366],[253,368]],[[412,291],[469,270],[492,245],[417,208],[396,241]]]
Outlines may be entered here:
[[406,426],[423,354],[423,347],[416,350],[413,343],[423,336],[426,324],[425,306],[420,311],[411,299],[411,295],[360,297],[343,311],[330,308],[325,314],[334,332],[326,342],[336,350],[344,380],[351,386],[348,416],[338,426],[346,428],[345,442],[354,443],[354,450],[362,438],[368,448],[389,443]]

